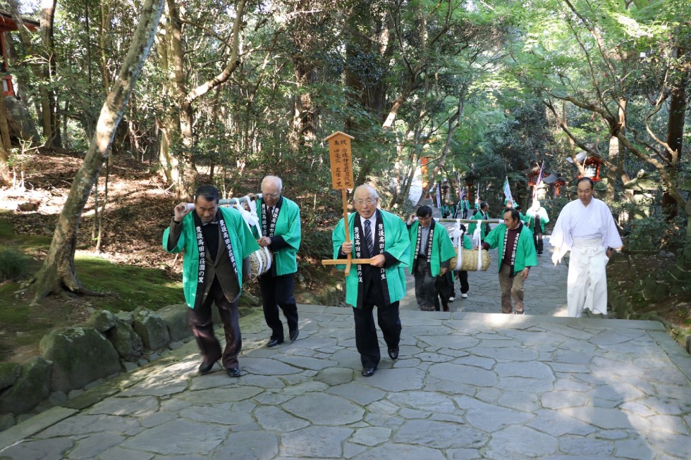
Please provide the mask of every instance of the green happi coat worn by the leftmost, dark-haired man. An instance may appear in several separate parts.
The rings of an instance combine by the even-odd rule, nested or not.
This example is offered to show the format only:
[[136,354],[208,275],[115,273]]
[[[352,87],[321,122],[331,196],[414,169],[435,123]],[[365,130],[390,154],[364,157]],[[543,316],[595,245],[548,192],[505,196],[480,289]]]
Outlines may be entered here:
[[[233,248],[233,255],[236,259],[236,266],[238,267],[238,287],[240,291],[243,287],[243,259],[249,257],[252,252],[259,249],[259,244],[252,237],[250,228],[245,223],[245,219],[240,216],[236,209],[219,207],[221,216],[226,222],[228,228],[228,235],[231,239],[231,247]],[[195,308],[195,299],[197,298],[197,272],[199,271],[199,247],[197,246],[197,232],[195,231],[195,219],[192,211],[183,218],[181,225],[183,230],[178,240],[178,245],[173,249],[168,249],[168,235],[170,228],[166,228],[163,232],[163,247],[168,252],[177,254],[183,253],[183,292],[185,294],[185,302],[190,309]],[[225,247],[226,243],[219,235],[219,246]],[[204,255],[202,254],[202,257]]]

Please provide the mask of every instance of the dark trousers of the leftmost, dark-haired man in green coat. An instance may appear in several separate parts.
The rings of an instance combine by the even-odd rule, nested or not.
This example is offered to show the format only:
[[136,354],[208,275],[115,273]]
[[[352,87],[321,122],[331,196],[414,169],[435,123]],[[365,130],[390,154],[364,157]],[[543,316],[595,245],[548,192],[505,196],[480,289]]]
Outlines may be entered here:
[[[221,353],[221,344],[214,335],[214,323],[212,320],[211,304],[216,303],[216,308],[221,314],[221,322],[226,333],[226,348]],[[197,340],[204,362],[212,363],[221,361],[224,368],[238,367],[238,354],[243,349],[243,337],[240,335],[240,323],[238,322],[238,302],[229,302],[226,299],[218,278],[214,278],[211,290],[204,302],[192,309],[190,313],[190,328]]]

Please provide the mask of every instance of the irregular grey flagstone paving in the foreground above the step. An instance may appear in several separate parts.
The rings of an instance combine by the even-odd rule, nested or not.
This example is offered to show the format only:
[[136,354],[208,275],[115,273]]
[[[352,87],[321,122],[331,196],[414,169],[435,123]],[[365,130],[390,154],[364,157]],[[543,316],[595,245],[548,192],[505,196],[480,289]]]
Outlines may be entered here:
[[299,309],[275,349],[242,318],[240,378],[196,375],[190,342],[0,433],[0,459],[691,456],[691,356],[659,323],[404,310],[365,378],[350,309]]

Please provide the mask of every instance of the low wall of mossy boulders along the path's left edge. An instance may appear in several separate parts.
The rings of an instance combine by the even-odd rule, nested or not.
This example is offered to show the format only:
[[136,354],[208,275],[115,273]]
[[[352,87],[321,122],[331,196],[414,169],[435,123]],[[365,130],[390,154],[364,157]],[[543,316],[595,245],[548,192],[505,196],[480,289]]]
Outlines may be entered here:
[[[247,310],[240,308],[240,315]],[[41,356],[0,364],[0,431],[41,411],[42,402],[63,402],[180,347],[192,338],[188,316],[185,304],[158,311],[101,310],[81,325],[51,331],[40,342]]]

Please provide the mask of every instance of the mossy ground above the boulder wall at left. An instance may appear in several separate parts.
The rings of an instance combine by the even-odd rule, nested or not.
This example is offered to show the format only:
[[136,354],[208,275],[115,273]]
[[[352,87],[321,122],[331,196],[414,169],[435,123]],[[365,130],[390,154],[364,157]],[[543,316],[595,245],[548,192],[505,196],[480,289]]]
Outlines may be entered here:
[[182,283],[161,268],[113,263],[78,251],[75,271],[82,285],[104,296],[51,296],[32,305],[35,292],[29,284],[41,264],[39,256],[50,239],[16,235],[0,218],[0,244],[23,254],[27,275],[0,283],[0,362],[21,362],[38,353],[38,343],[49,330],[84,321],[96,309],[132,311],[138,306],[157,310],[184,302]]

